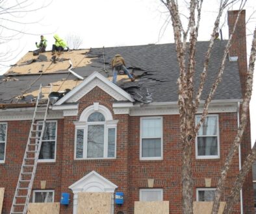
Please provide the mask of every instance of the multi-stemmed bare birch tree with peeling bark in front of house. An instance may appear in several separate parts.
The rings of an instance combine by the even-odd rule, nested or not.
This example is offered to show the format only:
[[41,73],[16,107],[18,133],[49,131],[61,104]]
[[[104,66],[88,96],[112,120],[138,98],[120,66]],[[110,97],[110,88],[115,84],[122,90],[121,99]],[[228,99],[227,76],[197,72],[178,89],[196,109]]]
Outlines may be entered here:
[[[179,12],[178,1],[176,0],[160,0],[164,6],[170,12],[170,17],[172,21],[173,34],[175,40],[175,47],[177,52],[177,60],[179,63],[179,78],[177,80],[178,83],[178,104],[179,104],[179,124],[180,124],[180,137],[181,143],[183,145],[183,167],[182,167],[182,208],[183,213],[189,214],[193,213],[193,178],[192,178],[192,146],[196,138],[196,134],[201,126],[201,124],[205,121],[205,117],[208,113],[209,104],[212,101],[212,97],[218,87],[218,84],[222,80],[222,75],[224,73],[225,60],[227,53],[229,52],[229,48],[231,46],[231,39],[233,37],[233,33],[235,32],[235,27],[237,25],[238,18],[240,16],[240,12],[242,12],[242,8],[246,4],[246,0],[222,0],[220,1],[220,8],[217,11],[217,16],[214,21],[214,27],[211,32],[211,40],[209,41],[209,47],[207,49],[207,53],[205,54],[205,62],[203,64],[203,71],[201,73],[199,88],[195,89],[194,86],[194,75],[195,75],[195,53],[196,53],[196,42],[198,40],[198,30],[201,19],[201,8],[203,5],[203,0],[190,0],[188,6],[189,18],[186,23],[187,27],[185,27],[183,20],[181,18],[181,14]],[[240,9],[238,12],[237,19],[235,21],[234,28],[229,36],[229,40],[227,41],[227,45],[225,46],[225,51],[222,56],[222,62],[220,67],[218,68],[218,74],[214,83],[212,84],[212,88],[207,96],[207,99],[204,101],[203,105],[203,113],[201,114],[201,118],[199,122],[195,125],[195,117],[198,112],[198,107],[201,101],[201,95],[203,92],[204,84],[207,78],[207,71],[209,65],[209,59],[211,57],[212,47],[214,45],[214,36],[220,27],[220,18],[225,13],[225,10],[234,3],[240,3]],[[220,174],[220,179],[218,181],[218,185],[216,187],[215,197],[214,197],[214,205],[212,208],[212,213],[218,213],[218,209],[220,206],[220,196],[224,192],[224,182],[227,178],[227,172],[231,167],[231,163],[233,160],[233,156],[235,152],[237,152],[238,147],[241,142],[242,134],[246,129],[246,124],[248,121],[248,108],[251,99],[251,90],[252,90],[252,82],[253,82],[253,69],[255,63],[255,55],[256,55],[256,30],[254,31],[253,42],[251,46],[251,54],[250,54],[250,62],[248,68],[248,75],[246,80],[246,92],[244,93],[244,99],[242,102],[241,109],[241,119],[240,125],[237,130],[237,136],[235,136],[235,140],[231,145],[231,149],[229,150],[229,155],[227,156],[224,166],[222,168],[222,172]],[[188,42],[188,43],[187,43]],[[186,54],[188,52],[188,54]],[[188,62],[186,62],[186,59]],[[194,91],[196,91],[196,96],[194,97]],[[252,153],[248,156],[247,160],[244,161],[244,165],[240,170],[240,173],[237,177],[237,182],[234,184],[234,188],[232,189],[232,193],[227,201],[225,210],[231,210],[233,207],[233,202],[235,202],[235,198],[239,194],[240,188],[242,187],[244,177],[248,173],[248,169],[250,169],[253,157],[255,157],[255,149],[252,150]],[[237,185],[237,187],[235,186]]]

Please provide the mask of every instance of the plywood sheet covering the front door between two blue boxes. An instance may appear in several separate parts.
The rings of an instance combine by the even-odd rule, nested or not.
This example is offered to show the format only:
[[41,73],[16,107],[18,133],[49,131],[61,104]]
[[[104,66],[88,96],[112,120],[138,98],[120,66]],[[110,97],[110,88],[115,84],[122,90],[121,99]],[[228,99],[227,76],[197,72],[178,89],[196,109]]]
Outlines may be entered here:
[[110,214],[112,193],[78,193],[77,214]]

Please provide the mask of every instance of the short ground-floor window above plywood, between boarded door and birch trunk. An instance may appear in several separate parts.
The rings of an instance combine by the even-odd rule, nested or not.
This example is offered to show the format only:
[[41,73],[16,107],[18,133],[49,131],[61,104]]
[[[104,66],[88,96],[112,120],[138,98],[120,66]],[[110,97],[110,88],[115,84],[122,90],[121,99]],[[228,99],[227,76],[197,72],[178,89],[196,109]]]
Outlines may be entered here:
[[162,189],[140,189],[140,201],[154,202],[162,201]]

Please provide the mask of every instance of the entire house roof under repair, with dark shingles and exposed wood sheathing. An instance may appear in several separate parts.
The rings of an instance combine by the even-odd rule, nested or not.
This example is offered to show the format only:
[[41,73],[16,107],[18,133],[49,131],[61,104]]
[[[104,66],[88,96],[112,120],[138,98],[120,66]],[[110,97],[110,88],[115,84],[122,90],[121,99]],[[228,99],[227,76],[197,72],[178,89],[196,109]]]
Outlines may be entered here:
[[[205,99],[218,71],[226,41],[216,41],[209,62],[209,73],[202,99]],[[203,71],[205,52],[209,42],[197,42],[195,85]],[[118,75],[118,86],[130,93],[135,101],[177,101],[177,78],[179,67],[175,44],[138,45],[127,47],[105,47],[68,51],[52,59],[51,52],[33,56],[25,54],[5,75],[0,76],[0,104],[32,103],[38,95],[40,84],[53,84],[52,91],[68,91],[83,80],[70,73],[86,78],[94,71],[112,80],[110,60],[122,54],[126,67],[136,80],[131,82],[127,75]],[[71,64],[73,67],[71,67]],[[240,79],[237,62],[226,60],[222,82],[215,100],[240,99]]]

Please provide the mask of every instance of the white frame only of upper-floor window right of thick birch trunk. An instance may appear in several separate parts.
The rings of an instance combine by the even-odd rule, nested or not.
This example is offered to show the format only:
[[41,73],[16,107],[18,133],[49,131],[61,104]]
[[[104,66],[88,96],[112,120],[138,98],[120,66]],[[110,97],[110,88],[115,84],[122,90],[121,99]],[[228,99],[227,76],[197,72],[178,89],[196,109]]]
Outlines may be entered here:
[[[213,113],[207,115],[207,117],[212,117],[212,116],[216,117],[216,123],[217,123],[216,124],[217,125],[217,127],[216,127],[216,130],[217,130],[216,136],[217,136],[217,145],[218,145],[217,151],[218,151],[218,154],[217,155],[199,156],[198,155],[198,134],[197,134],[196,135],[196,143],[195,143],[195,145],[196,145],[196,159],[218,159],[218,158],[220,158],[220,125],[219,125],[219,115],[218,114],[213,114]],[[201,115],[196,115],[196,119],[195,119],[196,125],[197,125],[197,118],[198,117],[201,117]],[[214,136],[214,137],[216,137],[216,136]],[[212,136],[205,136],[205,137],[212,137]]]

